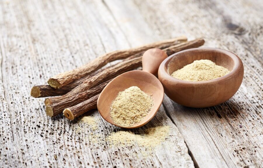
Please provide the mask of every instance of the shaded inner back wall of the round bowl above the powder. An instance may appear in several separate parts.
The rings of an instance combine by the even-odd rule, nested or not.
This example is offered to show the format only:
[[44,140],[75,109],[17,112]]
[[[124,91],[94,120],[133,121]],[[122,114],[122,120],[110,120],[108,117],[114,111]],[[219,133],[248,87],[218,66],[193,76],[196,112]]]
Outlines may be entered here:
[[165,64],[165,68],[168,74],[171,75],[174,71],[193,63],[195,60],[211,60],[215,62],[216,65],[232,71],[235,65],[234,58],[227,52],[226,50],[217,50],[215,48],[197,48],[185,52],[178,52],[174,54],[174,56],[170,56],[169,61]]

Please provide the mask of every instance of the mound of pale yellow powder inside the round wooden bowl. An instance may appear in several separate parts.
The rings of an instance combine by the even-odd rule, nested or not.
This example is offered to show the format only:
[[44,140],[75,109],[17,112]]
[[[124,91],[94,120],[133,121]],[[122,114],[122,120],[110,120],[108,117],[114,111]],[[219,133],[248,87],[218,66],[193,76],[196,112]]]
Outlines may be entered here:
[[193,63],[174,71],[171,76],[185,81],[208,81],[229,73],[229,70],[210,60],[195,60]]

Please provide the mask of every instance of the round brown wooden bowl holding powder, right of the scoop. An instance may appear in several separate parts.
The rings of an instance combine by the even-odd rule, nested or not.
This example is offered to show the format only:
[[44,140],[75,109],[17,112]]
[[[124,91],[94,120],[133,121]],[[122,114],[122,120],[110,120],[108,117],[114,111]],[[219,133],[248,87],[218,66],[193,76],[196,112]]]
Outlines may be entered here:
[[[195,60],[205,59],[230,72],[223,77],[200,82],[184,81],[170,75]],[[165,94],[176,103],[196,108],[215,106],[230,99],[238,91],[243,75],[244,67],[240,58],[218,48],[193,48],[177,52],[166,58],[158,70]]]

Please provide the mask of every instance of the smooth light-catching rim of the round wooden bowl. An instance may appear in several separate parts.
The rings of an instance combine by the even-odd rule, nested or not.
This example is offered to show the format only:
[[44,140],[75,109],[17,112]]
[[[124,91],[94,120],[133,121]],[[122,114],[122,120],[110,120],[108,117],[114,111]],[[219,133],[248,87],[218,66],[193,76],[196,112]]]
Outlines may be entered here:
[[[173,57],[176,57],[177,55],[179,55],[181,53],[191,52],[191,51],[192,52],[194,52],[194,51],[203,51],[203,52],[204,51],[216,51],[219,53],[223,53],[223,54],[231,57],[232,60],[234,61],[233,69],[228,74],[226,74],[222,77],[207,80],[207,81],[185,81],[185,80],[181,80],[181,79],[177,79],[177,78],[172,77],[167,72],[167,69],[168,69],[167,66],[169,65],[169,62],[173,59]],[[166,63],[167,63],[167,66],[166,66]],[[230,52],[230,51],[224,50],[224,49],[219,49],[219,48],[201,47],[201,48],[191,48],[191,49],[187,49],[187,50],[182,50],[182,51],[179,51],[179,52],[176,52],[176,53],[170,55],[161,63],[160,69],[163,69],[164,74],[165,74],[165,78],[167,78],[173,82],[182,83],[182,84],[210,84],[210,83],[219,82],[219,81],[223,81],[223,80],[226,80],[228,78],[231,78],[231,76],[234,75],[238,71],[238,69],[241,65],[243,65],[241,59],[236,54],[234,54],[233,52]]]

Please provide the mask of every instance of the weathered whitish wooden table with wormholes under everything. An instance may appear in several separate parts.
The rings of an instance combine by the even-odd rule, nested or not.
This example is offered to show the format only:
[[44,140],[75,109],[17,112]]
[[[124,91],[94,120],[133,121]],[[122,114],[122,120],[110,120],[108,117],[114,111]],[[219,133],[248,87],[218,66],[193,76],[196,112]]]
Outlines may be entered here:
[[[0,1],[0,167],[262,167],[262,1]],[[85,123],[46,116],[30,89],[117,49],[186,35],[235,52],[245,74],[229,101],[186,108],[167,96],[144,129],[169,125],[169,142],[92,142]],[[97,133],[121,130],[97,111]],[[80,131],[77,131],[81,128]]]

